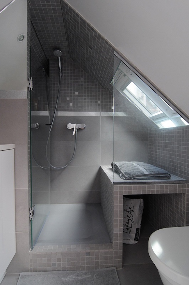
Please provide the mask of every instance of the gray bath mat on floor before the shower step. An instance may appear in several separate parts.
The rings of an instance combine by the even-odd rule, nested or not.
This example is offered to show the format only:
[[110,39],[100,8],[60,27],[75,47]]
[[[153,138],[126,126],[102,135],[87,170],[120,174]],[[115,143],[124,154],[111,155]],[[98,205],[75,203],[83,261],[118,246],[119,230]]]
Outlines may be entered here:
[[17,285],[120,285],[115,268],[89,271],[22,272]]

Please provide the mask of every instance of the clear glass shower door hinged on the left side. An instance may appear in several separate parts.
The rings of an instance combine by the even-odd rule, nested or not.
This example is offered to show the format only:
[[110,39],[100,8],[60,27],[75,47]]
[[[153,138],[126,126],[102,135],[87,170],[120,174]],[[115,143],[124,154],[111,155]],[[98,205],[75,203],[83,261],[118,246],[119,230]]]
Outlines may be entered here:
[[31,49],[31,77],[33,90],[30,92],[31,113],[31,248],[33,249],[47,219],[50,204],[50,143],[49,136],[49,77]]

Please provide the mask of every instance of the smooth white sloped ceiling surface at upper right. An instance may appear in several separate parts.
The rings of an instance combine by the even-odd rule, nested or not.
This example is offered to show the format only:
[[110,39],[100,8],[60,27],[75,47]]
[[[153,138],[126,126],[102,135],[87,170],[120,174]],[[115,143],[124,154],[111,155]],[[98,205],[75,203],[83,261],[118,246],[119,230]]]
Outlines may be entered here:
[[66,0],[189,115],[188,0]]

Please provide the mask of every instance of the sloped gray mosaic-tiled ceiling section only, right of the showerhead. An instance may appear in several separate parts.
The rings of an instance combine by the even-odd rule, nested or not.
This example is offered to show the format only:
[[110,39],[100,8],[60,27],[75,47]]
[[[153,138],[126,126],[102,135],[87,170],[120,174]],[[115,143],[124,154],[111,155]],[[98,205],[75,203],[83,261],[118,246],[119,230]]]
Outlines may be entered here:
[[70,58],[113,94],[112,45],[65,1],[61,1]]

